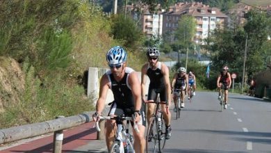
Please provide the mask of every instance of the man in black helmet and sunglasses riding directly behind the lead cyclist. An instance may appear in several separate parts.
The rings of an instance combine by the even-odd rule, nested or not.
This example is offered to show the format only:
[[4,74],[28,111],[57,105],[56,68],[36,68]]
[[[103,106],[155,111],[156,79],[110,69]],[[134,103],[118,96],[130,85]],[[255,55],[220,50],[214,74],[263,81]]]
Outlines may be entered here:
[[[165,65],[165,63],[161,63],[158,61],[158,57],[160,56],[160,52],[158,49],[149,48],[147,49],[147,58],[149,63],[146,63],[142,66],[141,70],[141,88],[142,88],[142,96],[145,99],[145,86],[147,77],[149,77],[150,83],[149,83],[149,91],[148,91],[148,97],[147,100],[154,100],[156,101],[158,93],[160,94],[160,100],[161,102],[168,102],[169,106],[171,103],[171,89],[170,89],[170,72],[168,70],[168,67]],[[149,123],[149,120],[151,116],[154,113],[154,106],[155,104],[148,103],[147,104],[147,121]],[[164,120],[165,120],[165,128],[166,128],[166,134],[165,138],[170,139],[171,137],[171,114],[170,111],[168,111],[168,107],[166,107],[164,104],[161,105]]]

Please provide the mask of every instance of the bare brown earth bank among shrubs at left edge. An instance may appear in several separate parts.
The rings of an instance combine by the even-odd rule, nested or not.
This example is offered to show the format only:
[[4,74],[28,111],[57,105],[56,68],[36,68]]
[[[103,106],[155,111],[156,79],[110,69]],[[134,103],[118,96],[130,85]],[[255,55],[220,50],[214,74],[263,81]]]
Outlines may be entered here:
[[19,102],[24,90],[24,73],[13,58],[0,56],[0,113],[10,104]]

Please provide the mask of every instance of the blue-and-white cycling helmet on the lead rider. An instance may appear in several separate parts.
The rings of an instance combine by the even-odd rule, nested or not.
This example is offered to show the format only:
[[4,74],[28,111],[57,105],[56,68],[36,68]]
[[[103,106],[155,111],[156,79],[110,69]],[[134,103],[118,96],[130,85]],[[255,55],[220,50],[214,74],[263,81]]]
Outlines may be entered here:
[[111,48],[106,54],[106,61],[108,62],[108,65],[124,63],[126,59],[126,51],[120,46]]

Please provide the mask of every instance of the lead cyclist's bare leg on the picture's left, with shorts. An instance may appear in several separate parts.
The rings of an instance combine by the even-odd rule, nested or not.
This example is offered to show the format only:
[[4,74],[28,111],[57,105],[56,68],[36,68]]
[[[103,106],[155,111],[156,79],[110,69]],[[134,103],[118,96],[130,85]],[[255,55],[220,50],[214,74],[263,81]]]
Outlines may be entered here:
[[[119,108],[115,102],[110,107],[110,111],[108,115],[120,115],[124,114],[124,111],[122,108]],[[108,152],[110,150],[111,145],[113,144],[113,141],[115,140],[115,131],[117,126],[115,126],[115,120],[106,120],[106,123],[104,124],[104,133],[106,135],[106,146],[108,149]]]

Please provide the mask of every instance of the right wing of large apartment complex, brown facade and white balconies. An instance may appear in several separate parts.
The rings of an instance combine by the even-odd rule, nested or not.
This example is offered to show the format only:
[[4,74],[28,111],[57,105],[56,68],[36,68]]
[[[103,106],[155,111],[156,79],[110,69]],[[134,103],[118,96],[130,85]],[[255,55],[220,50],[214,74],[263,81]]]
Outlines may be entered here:
[[204,45],[202,40],[208,37],[210,31],[223,28],[228,20],[228,16],[218,8],[211,8],[202,2],[176,3],[167,13],[163,13],[163,33],[174,34],[182,15],[195,17],[197,26],[193,40],[199,45]]

